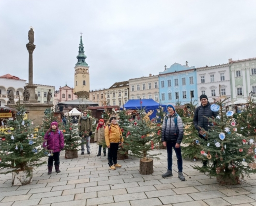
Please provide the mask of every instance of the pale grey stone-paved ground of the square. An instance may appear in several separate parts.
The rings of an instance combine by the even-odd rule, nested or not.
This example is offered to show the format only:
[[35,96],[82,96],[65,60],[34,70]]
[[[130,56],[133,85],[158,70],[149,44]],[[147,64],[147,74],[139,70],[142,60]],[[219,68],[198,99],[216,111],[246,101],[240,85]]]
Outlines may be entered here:
[[186,181],[178,179],[176,164],[173,177],[162,178],[167,170],[166,150],[153,151],[162,155],[154,160],[152,175],[139,174],[136,158],[118,161],[122,168],[112,171],[106,157],[96,157],[97,149],[91,144],[91,155],[81,156],[79,151],[79,158],[69,160],[62,152],[61,173],[47,175],[47,165],[43,165],[25,186],[12,186],[11,174],[0,175],[0,206],[256,205],[256,175],[243,184],[224,186],[192,168],[201,162],[184,160]]

